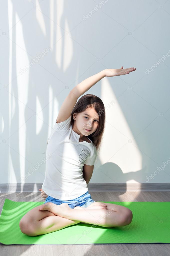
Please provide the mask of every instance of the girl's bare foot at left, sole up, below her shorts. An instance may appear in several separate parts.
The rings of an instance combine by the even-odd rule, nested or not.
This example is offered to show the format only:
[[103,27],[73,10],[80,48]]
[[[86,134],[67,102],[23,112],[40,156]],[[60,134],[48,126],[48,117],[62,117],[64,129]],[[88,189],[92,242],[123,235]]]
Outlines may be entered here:
[[38,209],[40,211],[47,210],[52,212],[55,215],[64,217],[65,216],[64,214],[70,210],[70,207],[66,203],[63,203],[61,205],[56,205],[52,202],[47,202],[46,204],[40,205]]

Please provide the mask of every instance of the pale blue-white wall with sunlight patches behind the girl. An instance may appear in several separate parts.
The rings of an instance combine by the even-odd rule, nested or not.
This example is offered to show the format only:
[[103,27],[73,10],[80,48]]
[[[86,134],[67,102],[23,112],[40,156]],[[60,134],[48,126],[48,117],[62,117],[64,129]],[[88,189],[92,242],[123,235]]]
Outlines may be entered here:
[[106,77],[85,93],[106,106],[90,182],[169,182],[170,2],[164,2],[3,2],[0,183],[43,183],[43,153],[64,98],[87,77],[121,66],[136,71]]

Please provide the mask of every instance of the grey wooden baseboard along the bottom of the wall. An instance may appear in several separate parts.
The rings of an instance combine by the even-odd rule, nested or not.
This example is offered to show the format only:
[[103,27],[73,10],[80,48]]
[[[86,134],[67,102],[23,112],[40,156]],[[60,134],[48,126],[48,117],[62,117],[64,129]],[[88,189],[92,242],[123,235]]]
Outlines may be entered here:
[[[1,183],[0,193],[40,192],[42,183]],[[170,191],[170,183],[88,183],[89,191]]]

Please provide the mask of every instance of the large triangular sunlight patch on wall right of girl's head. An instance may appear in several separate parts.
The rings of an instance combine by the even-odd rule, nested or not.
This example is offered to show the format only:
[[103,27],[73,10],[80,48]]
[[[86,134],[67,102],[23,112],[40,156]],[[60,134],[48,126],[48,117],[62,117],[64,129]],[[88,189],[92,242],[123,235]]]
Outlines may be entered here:
[[[107,78],[102,79],[101,98],[106,110],[106,126],[100,150],[100,161],[102,164],[106,162],[117,164],[123,173],[137,171],[142,169],[142,155],[136,148],[138,145],[133,138],[119,102],[115,100],[116,97],[109,80]],[[121,127],[121,131],[119,127]],[[132,140],[135,147],[128,140]]]

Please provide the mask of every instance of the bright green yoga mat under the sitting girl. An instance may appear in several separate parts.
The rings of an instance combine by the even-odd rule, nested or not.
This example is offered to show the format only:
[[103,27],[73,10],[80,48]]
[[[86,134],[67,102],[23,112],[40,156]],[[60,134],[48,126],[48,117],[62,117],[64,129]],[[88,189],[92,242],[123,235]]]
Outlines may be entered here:
[[0,216],[3,244],[118,244],[170,243],[170,202],[106,202],[122,205],[133,212],[130,225],[105,228],[77,223],[35,237],[23,234],[19,221],[26,212],[43,202],[15,202],[5,199]]

